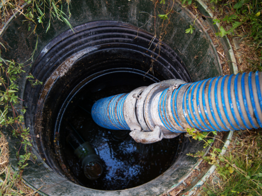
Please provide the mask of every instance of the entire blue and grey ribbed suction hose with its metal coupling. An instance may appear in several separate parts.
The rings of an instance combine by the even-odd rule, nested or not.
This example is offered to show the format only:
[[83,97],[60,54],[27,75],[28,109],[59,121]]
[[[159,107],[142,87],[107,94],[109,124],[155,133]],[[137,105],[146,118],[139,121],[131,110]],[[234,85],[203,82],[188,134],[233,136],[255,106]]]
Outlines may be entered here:
[[92,117],[101,127],[131,130],[142,143],[186,129],[230,131],[262,127],[262,72],[185,83],[171,79],[98,100]]

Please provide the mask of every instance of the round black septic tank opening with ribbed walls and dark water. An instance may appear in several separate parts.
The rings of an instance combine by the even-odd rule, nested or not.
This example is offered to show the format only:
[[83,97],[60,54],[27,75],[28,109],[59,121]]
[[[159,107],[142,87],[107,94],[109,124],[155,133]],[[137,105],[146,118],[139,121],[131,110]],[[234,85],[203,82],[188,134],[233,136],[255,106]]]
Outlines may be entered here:
[[[154,144],[136,143],[129,135],[120,139],[92,120],[91,107],[100,98],[137,87],[191,78],[180,57],[146,31],[114,21],[79,28],[75,34],[62,33],[60,42],[51,41],[36,60],[33,74],[46,81],[44,87],[26,86],[25,106],[34,107],[26,121],[39,135],[34,138],[39,154],[58,174],[88,188],[123,190],[147,183],[175,163],[180,144],[186,148],[187,142],[182,136]],[[87,164],[74,153],[68,129],[100,157],[92,162],[101,169],[96,180],[86,177]]]

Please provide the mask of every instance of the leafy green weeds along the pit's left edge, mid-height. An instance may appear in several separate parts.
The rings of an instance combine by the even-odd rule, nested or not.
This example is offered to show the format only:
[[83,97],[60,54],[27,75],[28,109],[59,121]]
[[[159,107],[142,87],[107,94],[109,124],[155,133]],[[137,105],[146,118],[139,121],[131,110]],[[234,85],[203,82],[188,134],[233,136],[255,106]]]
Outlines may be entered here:
[[[33,58],[33,57],[32,57]],[[36,159],[32,153],[32,139],[29,133],[29,128],[25,128],[23,115],[17,111],[17,108],[21,109],[23,113],[26,109],[19,103],[21,100],[16,95],[18,86],[15,81],[18,79],[20,73],[25,73],[23,70],[23,64],[16,63],[15,61],[3,60],[0,58],[0,128],[5,127],[12,132],[12,135],[20,140],[20,148],[17,151],[17,158],[19,160],[18,165],[23,169],[28,165],[28,161]],[[28,78],[32,78],[33,85],[42,84],[33,75],[28,75]],[[18,106],[16,106],[18,105]],[[20,154],[20,149],[23,146],[25,153]],[[33,161],[34,162],[34,161]]]

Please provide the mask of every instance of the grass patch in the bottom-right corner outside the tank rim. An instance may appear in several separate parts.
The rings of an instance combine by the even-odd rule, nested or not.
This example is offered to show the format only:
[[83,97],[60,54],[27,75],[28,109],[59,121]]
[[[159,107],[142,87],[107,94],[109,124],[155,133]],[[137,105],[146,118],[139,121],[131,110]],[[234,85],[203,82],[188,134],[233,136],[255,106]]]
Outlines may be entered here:
[[237,131],[235,142],[217,164],[222,181],[206,183],[204,196],[262,195],[262,130]]

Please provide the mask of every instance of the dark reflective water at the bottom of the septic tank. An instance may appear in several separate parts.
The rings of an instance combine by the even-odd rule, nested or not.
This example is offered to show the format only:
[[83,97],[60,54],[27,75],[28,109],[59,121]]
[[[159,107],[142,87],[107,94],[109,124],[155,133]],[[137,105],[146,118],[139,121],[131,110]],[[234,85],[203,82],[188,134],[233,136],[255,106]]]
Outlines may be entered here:
[[[145,83],[145,86],[150,83]],[[99,127],[91,117],[95,100],[114,94],[130,92],[138,86],[113,86],[102,90],[82,90],[66,109],[60,128],[60,145],[64,151],[62,159],[70,175],[82,186],[98,190],[122,190],[139,186],[161,175],[174,163],[178,151],[178,138],[163,139],[153,144],[136,143],[131,136],[116,141],[113,130]],[[95,149],[103,161],[103,174],[97,180],[84,176],[81,161],[66,143],[63,129],[71,124],[85,141]],[[69,175],[69,174],[68,174]]]

